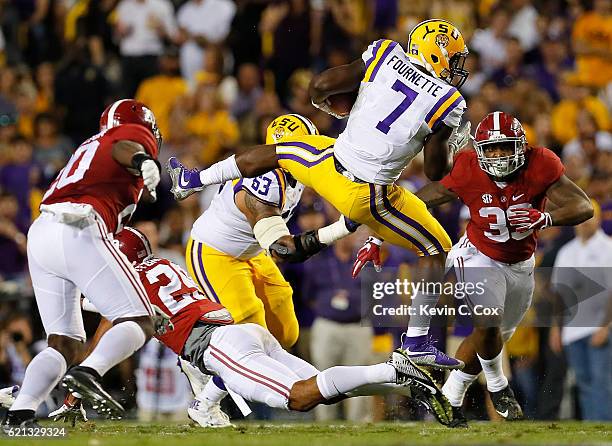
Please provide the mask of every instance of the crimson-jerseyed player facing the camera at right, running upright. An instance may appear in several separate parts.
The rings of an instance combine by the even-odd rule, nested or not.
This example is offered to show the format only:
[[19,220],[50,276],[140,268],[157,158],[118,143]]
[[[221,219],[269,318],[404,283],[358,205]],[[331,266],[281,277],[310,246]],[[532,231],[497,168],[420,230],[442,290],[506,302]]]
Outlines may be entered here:
[[[450,251],[447,267],[458,282],[484,287],[484,293],[466,297],[474,331],[457,350],[465,368],[453,370],[442,389],[456,426],[467,427],[461,406],[481,371],[497,413],[506,420],[523,417],[502,371],[501,352],[531,304],[537,233],[593,216],[589,198],[564,170],[552,151],[528,145],[518,119],[496,111],[478,124],[474,150],[458,152],[448,175],[417,192],[428,207],[456,198],[468,206],[466,233]],[[478,305],[498,316],[476,316]]]

